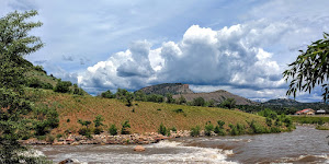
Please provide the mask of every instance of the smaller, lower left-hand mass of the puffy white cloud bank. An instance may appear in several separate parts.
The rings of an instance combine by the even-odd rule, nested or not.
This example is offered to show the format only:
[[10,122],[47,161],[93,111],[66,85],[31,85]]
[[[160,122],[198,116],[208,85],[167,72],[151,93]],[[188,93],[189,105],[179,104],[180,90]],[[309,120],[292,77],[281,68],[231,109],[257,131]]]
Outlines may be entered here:
[[89,67],[79,78],[80,85],[92,93],[117,87],[137,90],[145,86],[155,74],[149,56],[152,54],[152,61],[158,61],[150,46],[147,42],[134,43],[128,50],[116,52],[106,61]]

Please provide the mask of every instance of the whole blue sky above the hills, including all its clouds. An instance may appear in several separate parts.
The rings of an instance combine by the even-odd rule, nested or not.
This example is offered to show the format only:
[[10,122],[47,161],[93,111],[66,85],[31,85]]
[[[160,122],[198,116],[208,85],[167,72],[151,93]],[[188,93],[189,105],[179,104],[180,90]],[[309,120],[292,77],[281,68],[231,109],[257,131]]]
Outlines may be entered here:
[[[37,10],[45,47],[26,57],[90,94],[164,83],[286,97],[282,72],[329,32],[328,0],[2,0],[0,15]],[[321,89],[299,93],[321,101]]]

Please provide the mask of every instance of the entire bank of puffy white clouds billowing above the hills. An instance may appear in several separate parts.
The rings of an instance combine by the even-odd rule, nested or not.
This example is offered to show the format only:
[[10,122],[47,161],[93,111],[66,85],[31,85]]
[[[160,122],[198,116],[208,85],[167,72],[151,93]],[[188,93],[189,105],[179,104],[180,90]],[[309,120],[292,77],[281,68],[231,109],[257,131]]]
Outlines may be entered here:
[[81,84],[98,90],[136,90],[162,82],[252,89],[282,86],[279,65],[271,59],[271,52],[248,42],[250,33],[254,30],[243,25],[219,31],[192,25],[181,42],[167,42],[157,49],[151,49],[147,42],[137,42],[128,50],[89,67]]

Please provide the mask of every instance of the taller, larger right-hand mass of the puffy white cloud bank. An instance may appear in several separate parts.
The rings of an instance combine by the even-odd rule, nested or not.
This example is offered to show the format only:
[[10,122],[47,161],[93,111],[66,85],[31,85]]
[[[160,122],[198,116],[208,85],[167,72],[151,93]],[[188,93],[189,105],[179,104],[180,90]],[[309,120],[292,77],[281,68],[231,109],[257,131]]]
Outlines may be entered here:
[[[159,82],[277,87],[280,67],[272,54],[248,43],[249,26],[219,31],[191,26],[179,44],[164,43]],[[262,86],[260,86],[262,85]]]

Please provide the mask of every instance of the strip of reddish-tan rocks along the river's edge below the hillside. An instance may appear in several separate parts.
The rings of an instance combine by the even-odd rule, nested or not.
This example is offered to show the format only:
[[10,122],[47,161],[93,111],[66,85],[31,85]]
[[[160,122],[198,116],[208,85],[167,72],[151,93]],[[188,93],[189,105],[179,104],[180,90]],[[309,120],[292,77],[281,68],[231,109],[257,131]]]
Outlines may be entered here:
[[21,140],[22,144],[54,144],[54,145],[79,145],[79,144],[149,144],[157,143],[161,140],[172,139],[172,138],[182,138],[190,137],[189,130],[179,130],[177,132],[171,132],[169,137],[162,136],[158,132],[146,132],[143,134],[133,133],[133,134],[118,134],[111,136],[109,133],[92,134],[92,138],[87,138],[81,134],[68,134],[68,137],[61,137],[55,139],[54,141],[37,140],[35,138],[29,140]]

